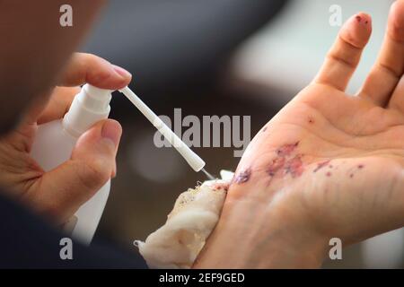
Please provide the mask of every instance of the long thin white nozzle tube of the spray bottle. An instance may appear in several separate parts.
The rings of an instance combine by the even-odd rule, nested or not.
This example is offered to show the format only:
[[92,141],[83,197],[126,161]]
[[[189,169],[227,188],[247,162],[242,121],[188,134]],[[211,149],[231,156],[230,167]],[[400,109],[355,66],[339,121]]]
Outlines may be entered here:
[[171,131],[170,127],[162,122],[162,119],[154,114],[154,111],[147,107],[145,103],[136,96],[135,92],[130,90],[128,87],[119,90],[122,92],[128,100],[130,100],[137,109],[139,109],[142,114],[147,117],[147,119],[155,126],[158,131],[171,143],[171,145],[180,152],[180,155],[189,163],[189,166],[195,170],[202,170],[205,166],[205,161],[203,161],[197,153],[192,152],[187,144],[180,140],[178,135],[175,135]]

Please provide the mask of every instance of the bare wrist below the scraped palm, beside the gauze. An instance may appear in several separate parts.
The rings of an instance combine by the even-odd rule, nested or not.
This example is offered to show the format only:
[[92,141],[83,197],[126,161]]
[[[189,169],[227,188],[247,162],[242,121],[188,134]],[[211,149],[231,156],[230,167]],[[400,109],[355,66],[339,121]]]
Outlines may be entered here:
[[327,248],[309,224],[268,212],[263,204],[226,202],[193,267],[319,268]]

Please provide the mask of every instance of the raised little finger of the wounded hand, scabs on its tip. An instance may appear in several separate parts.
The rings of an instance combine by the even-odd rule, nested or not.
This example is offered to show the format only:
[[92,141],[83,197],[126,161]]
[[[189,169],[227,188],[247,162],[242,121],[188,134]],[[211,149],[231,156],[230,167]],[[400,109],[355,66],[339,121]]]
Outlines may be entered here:
[[358,13],[352,16],[339,31],[314,83],[345,91],[371,33],[372,20],[369,15]]

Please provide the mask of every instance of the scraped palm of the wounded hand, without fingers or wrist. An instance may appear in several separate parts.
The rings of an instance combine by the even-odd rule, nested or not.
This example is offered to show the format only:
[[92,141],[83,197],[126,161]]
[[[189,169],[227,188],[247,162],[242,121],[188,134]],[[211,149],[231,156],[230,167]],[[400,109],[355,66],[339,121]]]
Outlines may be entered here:
[[383,215],[402,216],[403,140],[397,110],[313,84],[261,129],[235,181],[259,178],[259,200],[270,194],[267,203],[285,204],[329,237],[356,241],[373,226],[399,227]]

